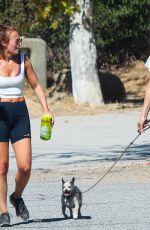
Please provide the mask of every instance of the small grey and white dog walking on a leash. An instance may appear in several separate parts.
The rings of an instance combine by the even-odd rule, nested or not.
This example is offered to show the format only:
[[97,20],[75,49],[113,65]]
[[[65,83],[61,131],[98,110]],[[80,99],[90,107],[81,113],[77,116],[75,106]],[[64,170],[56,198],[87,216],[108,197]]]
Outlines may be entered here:
[[62,178],[62,214],[68,218],[65,213],[66,207],[69,208],[70,218],[78,219],[81,217],[82,193],[77,186],[74,186],[75,178],[71,182],[65,182]]

